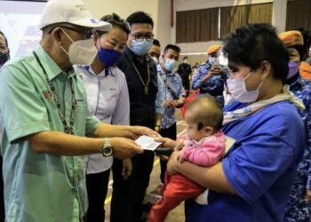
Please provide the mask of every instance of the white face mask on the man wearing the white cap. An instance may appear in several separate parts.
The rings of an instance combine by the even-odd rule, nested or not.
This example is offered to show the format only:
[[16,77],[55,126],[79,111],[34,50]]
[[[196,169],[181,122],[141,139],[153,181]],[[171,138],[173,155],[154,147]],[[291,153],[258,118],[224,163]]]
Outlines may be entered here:
[[71,64],[91,65],[98,52],[93,39],[77,40],[75,42],[63,29],[61,30],[72,42],[69,46],[68,52],[66,52],[66,50],[60,45],[60,49],[68,54]]

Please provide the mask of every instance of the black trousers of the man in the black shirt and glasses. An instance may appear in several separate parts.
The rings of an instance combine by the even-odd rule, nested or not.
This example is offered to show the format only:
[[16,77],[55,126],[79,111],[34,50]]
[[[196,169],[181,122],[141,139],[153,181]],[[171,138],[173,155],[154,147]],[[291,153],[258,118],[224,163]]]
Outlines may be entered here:
[[150,173],[155,155],[145,151],[132,157],[132,175],[122,177],[122,161],[114,159],[113,193],[111,200],[111,222],[139,222],[142,215],[142,202],[149,185]]

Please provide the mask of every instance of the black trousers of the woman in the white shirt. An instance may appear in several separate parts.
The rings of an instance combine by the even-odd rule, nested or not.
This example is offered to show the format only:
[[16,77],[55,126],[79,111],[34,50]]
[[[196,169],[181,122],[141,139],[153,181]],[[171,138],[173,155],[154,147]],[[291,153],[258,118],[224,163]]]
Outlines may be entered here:
[[108,191],[110,169],[86,175],[86,188],[89,208],[86,213],[87,222],[105,221],[104,204]]

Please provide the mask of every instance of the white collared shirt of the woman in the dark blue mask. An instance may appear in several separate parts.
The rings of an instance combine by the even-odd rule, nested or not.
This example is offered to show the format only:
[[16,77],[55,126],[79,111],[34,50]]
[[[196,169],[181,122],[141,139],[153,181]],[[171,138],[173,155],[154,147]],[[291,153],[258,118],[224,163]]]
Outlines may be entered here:
[[[124,73],[118,67],[108,67],[96,75],[92,67],[78,66],[76,74],[84,82],[90,111],[101,122],[115,125],[130,124],[129,91]],[[113,157],[101,154],[86,155],[86,173],[110,169]]]

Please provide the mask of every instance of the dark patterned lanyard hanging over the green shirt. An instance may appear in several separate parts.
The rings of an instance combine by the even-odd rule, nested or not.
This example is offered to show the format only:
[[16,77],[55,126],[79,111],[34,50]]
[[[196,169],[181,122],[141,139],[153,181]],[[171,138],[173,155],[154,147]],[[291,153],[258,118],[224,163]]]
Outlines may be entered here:
[[70,113],[70,121],[69,121],[69,124],[68,122],[66,121],[65,119],[65,115],[64,115],[64,112],[61,110],[61,106],[60,106],[60,100],[59,98],[57,97],[57,93],[56,93],[56,88],[55,88],[55,85],[54,83],[52,82],[52,80],[49,80],[49,77],[48,75],[46,74],[46,71],[44,69],[44,66],[42,65],[40,59],[38,58],[38,56],[36,55],[36,52],[33,52],[34,55],[35,55],[35,58],[36,58],[36,61],[39,63],[40,67],[42,68],[42,70],[44,71],[44,75],[45,75],[45,78],[46,78],[46,81],[47,83],[49,84],[50,86],[50,89],[52,91],[52,96],[53,96],[53,99],[54,99],[54,102],[56,104],[56,107],[57,107],[57,111],[59,113],[59,116],[60,116],[60,121],[61,123],[63,124],[64,126],[64,132],[67,133],[67,134],[71,134],[71,135],[74,135],[75,132],[74,132],[74,124],[75,124],[75,120],[76,120],[76,97],[75,97],[75,87],[74,87],[74,83],[72,81],[72,78],[70,78],[70,88],[71,88],[71,113]]

